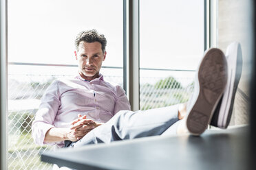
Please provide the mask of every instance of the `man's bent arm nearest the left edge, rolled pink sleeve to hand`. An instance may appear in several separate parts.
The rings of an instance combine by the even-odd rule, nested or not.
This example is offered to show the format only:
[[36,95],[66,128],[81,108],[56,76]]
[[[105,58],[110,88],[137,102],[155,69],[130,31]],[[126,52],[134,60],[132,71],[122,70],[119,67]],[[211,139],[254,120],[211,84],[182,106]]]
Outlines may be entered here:
[[71,130],[70,127],[60,128],[54,126],[54,119],[61,104],[61,95],[58,89],[58,81],[54,81],[47,88],[41,99],[41,105],[32,123],[32,136],[36,144],[54,144],[65,140],[77,141],[81,136],[85,135],[85,130],[92,129],[92,125],[88,125],[83,132],[78,132],[78,130]]

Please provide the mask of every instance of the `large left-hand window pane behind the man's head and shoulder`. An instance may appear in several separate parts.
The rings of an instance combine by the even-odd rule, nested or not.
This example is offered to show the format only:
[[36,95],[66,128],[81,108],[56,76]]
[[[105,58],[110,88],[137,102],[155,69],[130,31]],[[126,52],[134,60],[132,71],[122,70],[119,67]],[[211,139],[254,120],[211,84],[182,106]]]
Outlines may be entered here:
[[34,145],[31,124],[47,86],[77,74],[78,32],[105,34],[107,58],[101,72],[105,80],[122,85],[122,9],[119,0],[8,1],[8,169],[52,169],[40,162],[45,146]]

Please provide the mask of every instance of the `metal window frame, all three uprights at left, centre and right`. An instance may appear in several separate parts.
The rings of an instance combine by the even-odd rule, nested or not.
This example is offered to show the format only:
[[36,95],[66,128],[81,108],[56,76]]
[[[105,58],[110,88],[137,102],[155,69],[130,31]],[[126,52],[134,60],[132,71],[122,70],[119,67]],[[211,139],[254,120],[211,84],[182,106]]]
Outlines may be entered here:
[[[0,52],[1,52],[1,169],[7,169],[6,124],[8,107],[8,15],[7,0],[0,0]],[[204,49],[217,46],[217,0],[204,0]],[[131,110],[139,110],[140,104],[140,0],[123,0],[123,87],[131,103]]]

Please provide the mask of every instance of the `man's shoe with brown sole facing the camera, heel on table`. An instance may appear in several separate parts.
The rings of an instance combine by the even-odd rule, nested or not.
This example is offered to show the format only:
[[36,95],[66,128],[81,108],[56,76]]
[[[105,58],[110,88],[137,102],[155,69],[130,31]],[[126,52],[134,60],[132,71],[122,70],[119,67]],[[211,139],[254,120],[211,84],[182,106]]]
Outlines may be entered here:
[[227,82],[227,64],[220,49],[209,49],[195,76],[194,93],[186,105],[186,127],[200,135],[208,127]]

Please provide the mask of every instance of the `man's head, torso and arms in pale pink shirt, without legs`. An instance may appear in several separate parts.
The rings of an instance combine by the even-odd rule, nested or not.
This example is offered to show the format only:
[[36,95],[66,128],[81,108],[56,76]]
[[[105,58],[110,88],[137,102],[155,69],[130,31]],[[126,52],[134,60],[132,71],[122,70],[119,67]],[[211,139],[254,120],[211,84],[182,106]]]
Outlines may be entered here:
[[[32,123],[32,136],[39,144],[57,144],[77,141],[94,127],[111,119],[120,110],[130,110],[125,91],[112,86],[100,74],[106,58],[105,36],[96,30],[81,32],[75,40],[78,76],[71,80],[56,80],[45,91],[41,105]],[[71,130],[78,117],[84,126]]]

